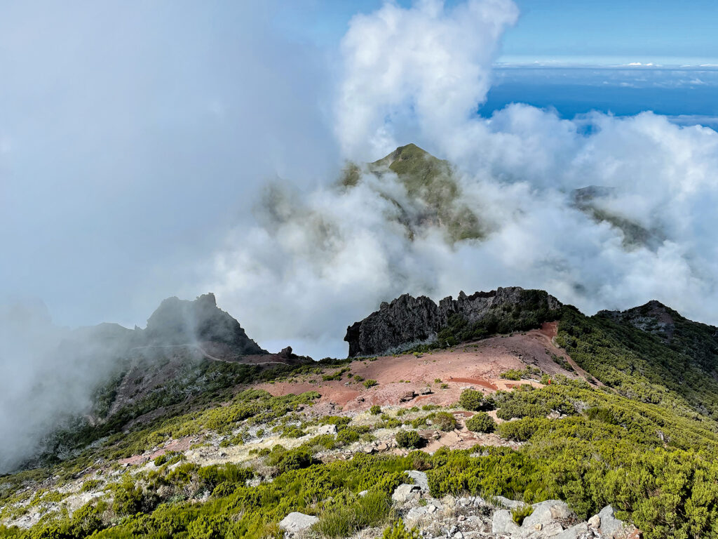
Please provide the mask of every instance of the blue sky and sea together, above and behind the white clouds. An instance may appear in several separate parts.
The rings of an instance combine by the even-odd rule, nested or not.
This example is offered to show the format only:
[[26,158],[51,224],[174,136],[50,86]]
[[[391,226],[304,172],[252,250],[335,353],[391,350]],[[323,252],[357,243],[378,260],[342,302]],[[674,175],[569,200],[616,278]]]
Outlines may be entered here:
[[[354,14],[382,4],[314,0],[283,6],[274,21],[299,41],[333,50]],[[398,4],[411,6],[411,1]],[[567,118],[592,110],[617,116],[652,110],[679,122],[718,127],[715,1],[516,4],[521,15],[503,36],[494,83],[480,114],[490,116],[508,103],[522,102]],[[643,65],[628,66],[632,63]]]

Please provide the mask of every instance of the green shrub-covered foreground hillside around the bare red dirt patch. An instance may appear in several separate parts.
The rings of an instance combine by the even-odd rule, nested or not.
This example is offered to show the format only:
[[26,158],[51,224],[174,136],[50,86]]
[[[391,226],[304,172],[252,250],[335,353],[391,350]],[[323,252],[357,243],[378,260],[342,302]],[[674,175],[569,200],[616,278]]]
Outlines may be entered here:
[[[471,346],[461,341],[553,320],[554,341],[587,379],[526,363],[504,373],[516,379],[509,390],[467,389],[444,407],[370,406],[381,384],[366,384],[360,369],[391,365],[391,356],[271,368],[205,359],[163,394],[202,387],[195,397],[165,401],[158,393],[113,421],[63,430],[45,459],[0,478],[0,537],[279,537],[292,512],[317,517],[315,537],[379,537],[399,518],[426,537],[444,534],[428,521],[466,533],[485,526],[491,537],[505,497],[518,500],[517,521],[531,516],[522,504],[561,499],[574,512],[564,527],[611,505],[648,539],[718,538],[716,329],[655,303],[593,317],[567,306],[541,313],[512,309],[485,327],[454,316],[434,347],[404,356],[430,364],[433,354],[466,354]],[[306,379],[317,380],[317,391],[273,396],[252,388]],[[325,382],[361,388],[366,406],[321,404]],[[473,445],[422,451],[452,436]],[[392,499],[411,482],[406,470],[426,474],[430,499]],[[460,520],[463,506],[454,500],[454,509],[449,495],[486,501],[472,502],[480,514]],[[417,517],[434,499],[443,509]],[[536,537],[551,537],[546,530]]]

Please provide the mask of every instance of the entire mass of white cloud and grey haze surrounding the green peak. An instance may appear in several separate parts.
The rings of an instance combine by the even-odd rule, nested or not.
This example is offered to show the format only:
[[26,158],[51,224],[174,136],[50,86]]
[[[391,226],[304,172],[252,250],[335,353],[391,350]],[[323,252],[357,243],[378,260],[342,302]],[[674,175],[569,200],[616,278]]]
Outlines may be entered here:
[[[15,201],[0,216],[4,286],[32,285],[51,308],[69,288],[62,310],[109,320],[130,296],[130,321],[211,290],[264,348],[317,358],[345,356],[345,328],[405,292],[521,285],[589,313],[656,298],[718,323],[718,134],[651,112],[480,116],[510,0],[387,3],[351,20],[336,70],[276,34],[274,4],[104,5],[37,17],[11,4],[0,20],[0,195]],[[456,165],[457,204],[482,237],[447,239],[391,174],[336,184],[342,158],[409,142]],[[585,211],[573,191],[587,185],[613,190]],[[0,313],[13,461],[58,410],[86,410],[112,364],[52,354],[67,333],[27,316]]]

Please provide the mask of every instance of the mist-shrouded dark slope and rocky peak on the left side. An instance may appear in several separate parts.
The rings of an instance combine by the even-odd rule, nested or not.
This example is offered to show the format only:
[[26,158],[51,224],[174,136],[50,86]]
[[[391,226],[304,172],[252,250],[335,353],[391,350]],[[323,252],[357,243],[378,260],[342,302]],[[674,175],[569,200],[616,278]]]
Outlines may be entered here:
[[[213,294],[168,298],[146,328],[134,330],[114,323],[58,328],[44,305],[19,304],[0,311],[0,338],[0,409],[6,411],[0,436],[8,441],[0,448],[0,473],[37,453],[58,429],[103,423],[204,357],[236,361],[268,354],[217,307]],[[123,391],[121,382],[133,369],[140,374]]]

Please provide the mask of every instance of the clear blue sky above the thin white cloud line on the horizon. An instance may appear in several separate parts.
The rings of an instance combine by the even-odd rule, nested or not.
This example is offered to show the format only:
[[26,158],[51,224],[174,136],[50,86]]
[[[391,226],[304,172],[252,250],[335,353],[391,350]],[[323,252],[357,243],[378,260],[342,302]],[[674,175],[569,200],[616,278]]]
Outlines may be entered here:
[[[457,4],[447,1],[447,6]],[[314,0],[283,6],[278,24],[322,45],[338,42],[354,14],[382,0]],[[410,6],[410,0],[398,4]],[[718,59],[718,6],[712,0],[516,0],[521,17],[503,40],[504,59],[589,57],[656,62]],[[679,60],[679,61],[681,61]],[[682,61],[681,61],[682,63]]]

